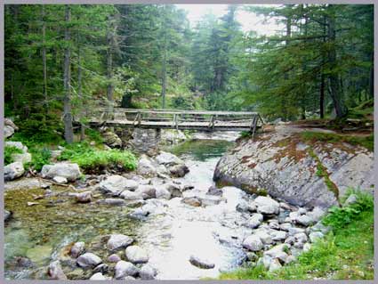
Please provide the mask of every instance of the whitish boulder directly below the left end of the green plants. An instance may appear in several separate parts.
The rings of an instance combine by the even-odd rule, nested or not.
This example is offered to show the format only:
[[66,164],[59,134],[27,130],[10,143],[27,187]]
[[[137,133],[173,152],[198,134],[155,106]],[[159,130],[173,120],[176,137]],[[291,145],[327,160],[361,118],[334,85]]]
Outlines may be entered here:
[[67,178],[69,182],[75,182],[80,178],[81,172],[77,164],[74,163],[57,163],[53,165],[44,165],[41,170],[43,177],[54,178],[62,176]]

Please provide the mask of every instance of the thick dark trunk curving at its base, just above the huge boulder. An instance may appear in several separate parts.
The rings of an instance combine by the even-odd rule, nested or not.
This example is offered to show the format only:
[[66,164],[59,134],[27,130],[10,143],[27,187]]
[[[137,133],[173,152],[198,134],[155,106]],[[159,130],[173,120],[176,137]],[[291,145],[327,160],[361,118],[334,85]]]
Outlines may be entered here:
[[340,90],[339,85],[339,74],[336,73],[336,46],[335,46],[335,40],[336,40],[336,22],[335,22],[335,15],[334,15],[334,5],[330,4],[328,6],[329,14],[327,14],[327,20],[328,20],[328,41],[331,44],[328,52],[328,61],[330,63],[331,67],[331,74],[329,76],[329,83],[331,86],[331,98],[334,102],[334,110],[336,111],[336,117],[337,118],[343,118],[347,114],[347,109],[344,105],[344,101],[342,98],[342,92]]

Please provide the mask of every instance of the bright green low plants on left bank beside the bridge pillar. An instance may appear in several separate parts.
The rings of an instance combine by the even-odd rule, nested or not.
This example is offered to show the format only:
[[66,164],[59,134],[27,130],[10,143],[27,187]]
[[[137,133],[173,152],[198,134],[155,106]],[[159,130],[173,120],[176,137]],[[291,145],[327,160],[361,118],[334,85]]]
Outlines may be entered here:
[[58,160],[70,160],[77,163],[84,171],[95,171],[104,168],[134,170],[137,158],[127,150],[98,150],[87,142],[73,143],[66,146]]

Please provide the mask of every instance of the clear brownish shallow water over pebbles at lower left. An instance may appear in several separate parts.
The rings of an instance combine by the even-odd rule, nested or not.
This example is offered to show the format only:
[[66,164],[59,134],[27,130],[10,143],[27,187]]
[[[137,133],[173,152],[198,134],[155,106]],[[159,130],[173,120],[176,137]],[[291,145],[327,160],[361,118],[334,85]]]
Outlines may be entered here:
[[[60,196],[34,200],[44,190],[15,190],[4,193],[5,208],[11,210],[12,221],[4,228],[5,277],[7,279],[33,278],[36,268],[56,259],[62,247],[75,241],[90,243],[93,238],[123,231],[134,235],[136,222],[129,218],[127,207],[76,204],[64,195],[65,188],[55,188]],[[27,202],[38,202],[28,207]],[[28,257],[33,267],[17,265],[17,256]]]

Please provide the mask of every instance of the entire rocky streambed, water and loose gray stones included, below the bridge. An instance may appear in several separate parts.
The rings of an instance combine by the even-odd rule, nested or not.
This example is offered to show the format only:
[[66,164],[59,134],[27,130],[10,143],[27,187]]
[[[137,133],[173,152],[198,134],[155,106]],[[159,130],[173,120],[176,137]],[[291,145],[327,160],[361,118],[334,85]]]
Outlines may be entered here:
[[[325,210],[216,188],[215,166],[232,145],[187,142],[172,149],[179,158],[142,156],[135,173],[87,175],[69,186],[7,183],[5,277],[196,280],[294,261],[326,233],[318,223]],[[43,172],[65,175],[53,166]]]

